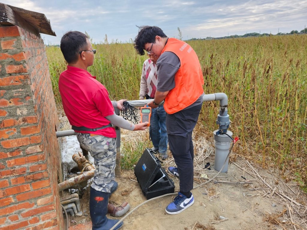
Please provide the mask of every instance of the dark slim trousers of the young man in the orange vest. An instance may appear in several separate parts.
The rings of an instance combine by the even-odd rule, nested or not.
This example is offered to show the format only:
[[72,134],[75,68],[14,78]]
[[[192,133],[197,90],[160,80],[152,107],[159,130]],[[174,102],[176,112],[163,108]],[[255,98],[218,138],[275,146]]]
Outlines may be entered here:
[[193,188],[194,147],[192,132],[201,107],[202,104],[166,115],[169,149],[178,167],[181,192],[189,192]]

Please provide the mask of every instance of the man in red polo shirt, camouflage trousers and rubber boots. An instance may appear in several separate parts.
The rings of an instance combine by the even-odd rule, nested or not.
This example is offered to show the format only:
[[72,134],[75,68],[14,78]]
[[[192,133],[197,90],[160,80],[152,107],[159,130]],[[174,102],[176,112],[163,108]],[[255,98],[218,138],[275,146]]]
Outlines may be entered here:
[[109,230],[118,222],[106,217],[109,196],[117,188],[116,134],[111,124],[128,130],[145,130],[148,122],[130,124],[114,113],[114,108],[122,109],[125,100],[112,102],[107,89],[87,72],[96,50],[84,33],[65,33],[60,48],[68,63],[59,78],[63,109],[80,145],[90,152],[96,167],[90,191],[92,229]]

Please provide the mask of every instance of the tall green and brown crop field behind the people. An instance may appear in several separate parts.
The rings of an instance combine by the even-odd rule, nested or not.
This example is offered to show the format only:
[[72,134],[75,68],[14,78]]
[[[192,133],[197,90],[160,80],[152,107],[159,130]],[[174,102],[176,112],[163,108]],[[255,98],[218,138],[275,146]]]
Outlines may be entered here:
[[[204,92],[228,96],[230,130],[240,140],[236,153],[273,167],[285,179],[307,185],[307,35],[194,40],[204,74]],[[133,44],[93,44],[88,71],[111,100],[137,100],[143,61]],[[66,63],[57,47],[46,48],[55,100]],[[215,124],[219,102],[204,102],[198,124],[204,133]]]

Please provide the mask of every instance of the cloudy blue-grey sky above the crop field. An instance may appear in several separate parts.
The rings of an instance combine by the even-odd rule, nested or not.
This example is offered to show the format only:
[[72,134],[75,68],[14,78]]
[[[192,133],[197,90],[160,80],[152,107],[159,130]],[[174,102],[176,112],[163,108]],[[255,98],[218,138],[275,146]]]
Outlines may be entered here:
[[307,0],[0,0],[46,15],[55,36],[45,44],[60,44],[69,30],[87,32],[93,42],[129,42],[136,25],[156,25],[169,37],[191,38],[290,33],[307,26]]

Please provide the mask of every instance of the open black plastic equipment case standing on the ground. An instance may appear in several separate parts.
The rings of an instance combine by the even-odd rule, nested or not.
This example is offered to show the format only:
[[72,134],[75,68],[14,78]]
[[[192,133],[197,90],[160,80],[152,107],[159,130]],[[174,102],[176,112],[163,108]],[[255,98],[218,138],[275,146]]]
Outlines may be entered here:
[[161,168],[160,160],[146,148],[134,168],[134,174],[146,199],[173,193],[175,185]]

